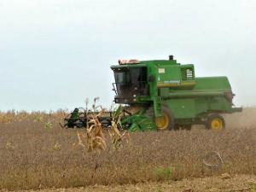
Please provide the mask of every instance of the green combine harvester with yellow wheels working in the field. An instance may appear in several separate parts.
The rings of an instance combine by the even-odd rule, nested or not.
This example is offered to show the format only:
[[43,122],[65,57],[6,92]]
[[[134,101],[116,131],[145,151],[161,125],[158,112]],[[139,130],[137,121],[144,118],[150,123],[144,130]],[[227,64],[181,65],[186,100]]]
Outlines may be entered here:
[[[169,60],[119,61],[111,66],[116,93],[114,102],[125,105],[121,127],[128,131],[190,130],[192,125],[222,130],[222,113],[241,112],[227,77],[195,78],[193,64]],[[76,108],[65,118],[68,128],[86,127],[90,112]],[[98,117],[103,127],[111,125],[113,112]]]

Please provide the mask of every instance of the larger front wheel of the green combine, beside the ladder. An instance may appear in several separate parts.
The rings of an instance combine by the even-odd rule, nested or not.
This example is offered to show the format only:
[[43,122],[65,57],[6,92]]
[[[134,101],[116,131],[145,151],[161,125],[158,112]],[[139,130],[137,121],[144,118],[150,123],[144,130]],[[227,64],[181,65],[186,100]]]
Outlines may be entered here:
[[172,111],[166,106],[163,106],[163,113],[163,117],[156,118],[154,117],[154,108],[150,107],[146,111],[145,115],[148,115],[153,119],[157,131],[172,130],[174,126],[174,118]]

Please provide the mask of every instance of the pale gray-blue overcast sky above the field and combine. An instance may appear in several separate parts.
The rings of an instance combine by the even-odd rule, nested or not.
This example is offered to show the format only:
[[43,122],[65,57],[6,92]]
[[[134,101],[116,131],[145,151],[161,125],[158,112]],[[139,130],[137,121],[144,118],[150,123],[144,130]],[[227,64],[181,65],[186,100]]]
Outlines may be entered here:
[[255,0],[0,0],[0,110],[113,101],[119,59],[195,64],[256,105]]

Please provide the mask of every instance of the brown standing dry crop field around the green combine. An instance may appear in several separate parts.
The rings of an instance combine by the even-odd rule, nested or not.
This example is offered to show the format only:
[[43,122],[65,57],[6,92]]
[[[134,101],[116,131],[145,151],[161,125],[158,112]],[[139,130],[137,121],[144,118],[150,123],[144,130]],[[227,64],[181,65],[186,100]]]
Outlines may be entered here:
[[[224,131],[129,133],[123,147],[88,153],[75,130],[62,129],[65,113],[1,113],[0,189],[45,189],[94,184],[181,180],[228,173],[256,173],[255,108],[226,115]],[[82,131],[82,130],[81,130]],[[211,172],[203,157],[221,154],[224,165]]]

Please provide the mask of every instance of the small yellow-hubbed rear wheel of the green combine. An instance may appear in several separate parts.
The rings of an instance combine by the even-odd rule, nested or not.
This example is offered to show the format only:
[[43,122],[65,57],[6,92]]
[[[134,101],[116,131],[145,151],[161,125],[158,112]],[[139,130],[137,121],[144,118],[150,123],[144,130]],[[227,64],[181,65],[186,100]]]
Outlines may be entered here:
[[224,118],[218,114],[211,114],[208,118],[207,118],[207,122],[206,122],[206,128],[207,130],[223,130],[225,127],[225,121]]

